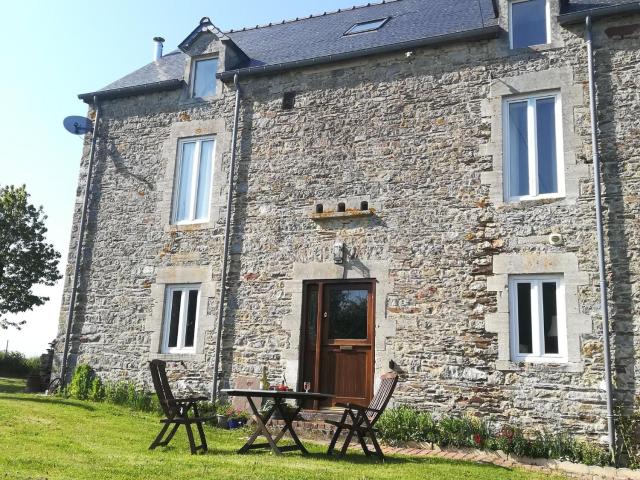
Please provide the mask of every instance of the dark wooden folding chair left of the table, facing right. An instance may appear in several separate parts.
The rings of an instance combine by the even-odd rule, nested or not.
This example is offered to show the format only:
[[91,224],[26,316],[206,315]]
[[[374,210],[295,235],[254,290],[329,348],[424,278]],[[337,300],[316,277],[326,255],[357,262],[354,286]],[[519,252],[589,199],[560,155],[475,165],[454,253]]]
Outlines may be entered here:
[[[198,413],[197,403],[203,400],[208,400],[207,397],[192,397],[192,398],[174,398],[169,387],[167,380],[166,363],[162,360],[152,360],[149,362],[149,368],[151,369],[151,378],[153,379],[153,386],[158,395],[160,406],[164,412],[166,418],[160,420],[164,423],[162,430],[149,446],[149,450],[153,450],[158,446],[166,447],[180,425],[184,425],[187,430],[187,438],[189,439],[189,447],[191,448],[191,454],[197,453],[198,450],[203,452],[207,451],[207,439],[204,436],[203,422],[207,420],[213,420],[215,417],[200,417]],[[193,410],[193,415],[189,416],[189,410]],[[191,425],[195,424],[200,435],[200,445],[196,446],[193,439],[193,430]],[[169,427],[173,425],[169,434],[165,437],[165,433]]]

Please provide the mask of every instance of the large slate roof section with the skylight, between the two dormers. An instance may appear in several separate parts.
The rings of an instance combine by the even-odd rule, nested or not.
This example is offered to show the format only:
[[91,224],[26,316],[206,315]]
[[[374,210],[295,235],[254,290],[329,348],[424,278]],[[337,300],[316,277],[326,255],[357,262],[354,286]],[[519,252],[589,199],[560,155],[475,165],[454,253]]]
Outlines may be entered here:
[[[343,34],[354,24],[391,17],[379,30]],[[396,0],[252,28],[227,35],[251,58],[274,65],[496,25],[491,0]]]

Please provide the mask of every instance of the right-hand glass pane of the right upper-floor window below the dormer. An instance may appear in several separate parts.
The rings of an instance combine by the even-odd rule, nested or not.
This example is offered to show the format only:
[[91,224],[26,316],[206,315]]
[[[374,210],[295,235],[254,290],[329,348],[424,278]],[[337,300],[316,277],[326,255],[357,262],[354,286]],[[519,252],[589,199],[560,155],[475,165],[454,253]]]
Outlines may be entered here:
[[538,193],[556,193],[558,191],[555,105],[555,98],[536,100]]

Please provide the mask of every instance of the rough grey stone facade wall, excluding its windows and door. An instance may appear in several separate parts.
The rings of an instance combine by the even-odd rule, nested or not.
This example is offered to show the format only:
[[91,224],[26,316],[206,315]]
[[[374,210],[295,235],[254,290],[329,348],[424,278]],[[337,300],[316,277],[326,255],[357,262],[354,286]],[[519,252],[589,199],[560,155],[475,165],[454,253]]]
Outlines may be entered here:
[[[625,401],[638,391],[640,43],[605,30],[632,23],[640,16],[594,25],[612,348]],[[241,79],[223,386],[263,365],[295,384],[304,279],[376,278],[376,377],[395,362],[396,403],[606,432],[584,27],[553,28],[553,43],[537,50],[511,51],[503,36]],[[504,202],[501,99],[550,88],[563,96],[566,195]],[[72,359],[105,378],[149,385],[146,362],[166,358],[178,361],[170,371],[180,389],[211,387],[235,96],[232,85],[219,89],[208,101],[175,91],[102,103]],[[287,91],[292,110],[281,108]],[[204,134],[217,141],[211,221],[172,226],[177,139]],[[87,157],[85,148],[79,185]],[[374,215],[311,218],[318,201],[360,199]],[[343,266],[333,263],[336,240],[350,252]],[[549,271],[570,283],[569,362],[511,362],[505,276]],[[163,285],[189,272],[207,285],[202,342],[194,355],[160,354]],[[67,276],[60,337],[69,294]]]

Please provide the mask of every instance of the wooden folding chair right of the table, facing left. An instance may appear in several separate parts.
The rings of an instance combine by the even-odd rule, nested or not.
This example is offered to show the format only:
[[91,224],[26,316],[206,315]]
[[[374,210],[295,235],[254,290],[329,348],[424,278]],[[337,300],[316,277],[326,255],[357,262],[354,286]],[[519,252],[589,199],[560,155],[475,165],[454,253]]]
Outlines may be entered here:
[[[346,430],[347,436],[344,440],[344,445],[342,445],[342,449],[340,450],[340,456],[344,456],[345,453],[347,453],[347,448],[349,448],[349,444],[351,443],[353,436],[356,435],[365,455],[369,456],[375,453],[381,460],[384,460],[384,454],[382,453],[382,449],[380,448],[380,444],[376,438],[376,429],[374,428],[374,425],[384,412],[384,409],[387,407],[387,404],[391,399],[391,395],[393,395],[393,391],[398,383],[398,375],[394,372],[385,373],[382,375],[381,379],[380,388],[368,407],[354,403],[336,404],[338,407],[344,407],[345,410],[340,421],[325,420],[326,423],[336,427],[336,431],[333,434],[331,443],[329,444],[327,455],[333,454],[333,449],[336,446],[336,442],[338,441],[342,430]],[[375,450],[374,452],[369,450],[367,447],[367,438],[371,440]]]

